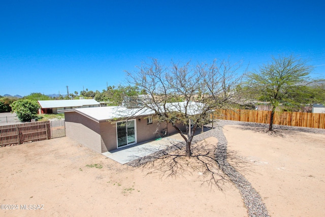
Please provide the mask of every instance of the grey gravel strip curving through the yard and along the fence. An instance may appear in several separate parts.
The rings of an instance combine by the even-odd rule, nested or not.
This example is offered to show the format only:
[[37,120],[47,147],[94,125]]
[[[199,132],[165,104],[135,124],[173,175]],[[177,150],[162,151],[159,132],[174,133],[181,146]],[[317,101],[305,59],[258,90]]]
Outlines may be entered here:
[[[242,195],[242,199],[246,205],[249,216],[270,216],[266,205],[263,203],[261,196],[252,187],[251,183],[240,174],[233,166],[231,166],[227,161],[227,140],[223,135],[223,127],[226,125],[240,125],[259,129],[268,129],[268,124],[263,123],[253,123],[253,122],[242,122],[242,121],[232,121],[232,120],[218,120],[216,123],[216,128],[205,133],[194,136],[193,142],[201,141],[205,138],[216,137],[218,139],[217,150],[215,153],[215,158],[219,164],[220,169],[229,176],[229,178],[234,182],[237,189]],[[315,129],[315,128],[302,128],[302,127],[291,127],[274,125],[274,130],[291,130],[306,133],[317,133],[325,134],[325,129]],[[127,165],[138,167],[149,161],[153,161],[166,153],[172,152],[174,150],[180,149],[185,145],[185,142],[173,145],[165,150],[152,153],[149,156],[134,160],[129,162]]]

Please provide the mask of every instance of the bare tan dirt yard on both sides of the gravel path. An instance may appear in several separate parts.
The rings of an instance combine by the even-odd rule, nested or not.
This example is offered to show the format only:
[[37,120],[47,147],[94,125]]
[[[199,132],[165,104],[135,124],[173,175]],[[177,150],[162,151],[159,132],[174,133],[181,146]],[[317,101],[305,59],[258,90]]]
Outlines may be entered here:
[[[325,135],[273,136],[240,126],[224,133],[229,149],[247,160],[239,170],[271,215],[325,213]],[[190,172],[176,177],[120,165],[68,137],[2,147],[0,165],[0,204],[19,208],[0,209],[0,216],[247,216],[232,183],[209,187],[186,164]],[[21,209],[38,204],[43,209]]]

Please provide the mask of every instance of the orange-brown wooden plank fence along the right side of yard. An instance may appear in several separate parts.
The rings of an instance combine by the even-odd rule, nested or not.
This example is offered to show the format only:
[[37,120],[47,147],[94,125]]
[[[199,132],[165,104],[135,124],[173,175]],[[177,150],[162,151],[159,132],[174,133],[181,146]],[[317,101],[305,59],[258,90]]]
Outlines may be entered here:
[[[270,123],[271,111],[216,109],[211,118]],[[275,112],[275,125],[325,129],[325,114],[310,112]]]

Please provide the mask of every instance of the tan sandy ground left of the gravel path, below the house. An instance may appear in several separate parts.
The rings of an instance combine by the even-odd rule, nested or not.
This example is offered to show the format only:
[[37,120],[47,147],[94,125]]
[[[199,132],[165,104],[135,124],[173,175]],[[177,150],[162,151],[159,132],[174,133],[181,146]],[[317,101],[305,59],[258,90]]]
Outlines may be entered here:
[[247,216],[232,183],[220,191],[198,171],[166,177],[123,166],[67,137],[2,147],[0,165],[0,204],[19,207],[0,216]]

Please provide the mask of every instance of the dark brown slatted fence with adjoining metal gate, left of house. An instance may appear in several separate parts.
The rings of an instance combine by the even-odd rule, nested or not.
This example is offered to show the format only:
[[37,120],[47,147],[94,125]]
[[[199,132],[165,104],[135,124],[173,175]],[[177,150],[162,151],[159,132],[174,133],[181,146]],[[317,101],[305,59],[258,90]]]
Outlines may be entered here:
[[64,120],[0,126],[0,146],[22,144],[66,136]]

